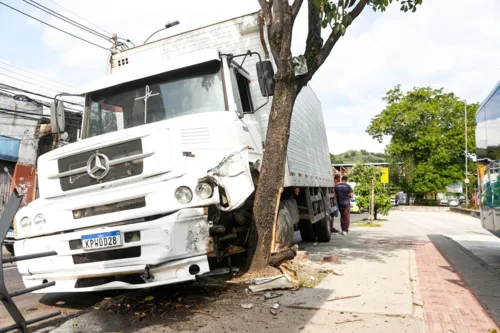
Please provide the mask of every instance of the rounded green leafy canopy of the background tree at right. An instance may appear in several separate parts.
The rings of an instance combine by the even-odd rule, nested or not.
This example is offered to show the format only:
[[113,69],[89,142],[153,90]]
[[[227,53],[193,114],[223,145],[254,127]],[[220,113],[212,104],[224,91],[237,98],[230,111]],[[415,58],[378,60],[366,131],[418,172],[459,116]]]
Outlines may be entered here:
[[[388,158],[401,165],[406,189],[417,195],[445,191],[465,178],[464,102],[453,93],[430,87],[387,92],[386,108],[367,129],[374,139],[391,136]],[[468,150],[475,151],[474,116],[478,104],[467,104]],[[469,172],[475,165],[469,162]]]

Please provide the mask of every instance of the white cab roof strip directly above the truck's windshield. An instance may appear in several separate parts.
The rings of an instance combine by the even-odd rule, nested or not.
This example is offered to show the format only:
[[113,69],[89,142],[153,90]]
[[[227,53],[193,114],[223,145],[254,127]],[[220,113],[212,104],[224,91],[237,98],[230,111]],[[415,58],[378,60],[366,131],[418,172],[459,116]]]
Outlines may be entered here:
[[201,64],[204,62],[220,60],[219,51],[216,49],[205,49],[190,54],[185,54],[169,61],[159,62],[157,66],[135,67],[131,70],[121,71],[116,74],[101,77],[86,83],[79,94],[84,95],[92,91],[113,87],[145,77],[170,72],[176,69]]

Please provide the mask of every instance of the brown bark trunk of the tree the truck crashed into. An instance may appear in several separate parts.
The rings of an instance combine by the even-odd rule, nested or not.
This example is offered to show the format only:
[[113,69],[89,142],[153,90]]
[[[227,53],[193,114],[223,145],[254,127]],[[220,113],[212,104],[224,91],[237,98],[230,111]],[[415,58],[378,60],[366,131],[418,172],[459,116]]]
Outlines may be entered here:
[[290,121],[296,96],[293,66],[290,61],[290,65],[287,68],[282,67],[276,77],[265,152],[253,208],[254,225],[248,244],[248,264],[251,271],[264,269],[269,263],[273,223],[279,204],[277,196],[283,187]]

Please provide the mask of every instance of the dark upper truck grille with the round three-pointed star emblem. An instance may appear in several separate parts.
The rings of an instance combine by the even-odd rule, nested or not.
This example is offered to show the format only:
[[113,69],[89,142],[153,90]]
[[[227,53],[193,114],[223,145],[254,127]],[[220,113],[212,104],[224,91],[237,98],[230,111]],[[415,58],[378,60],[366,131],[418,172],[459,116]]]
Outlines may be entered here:
[[[102,179],[92,178],[86,170],[87,162],[96,153],[105,155],[109,160],[109,170]],[[137,159],[133,159],[136,155]],[[144,156],[142,155],[142,142],[140,139],[102,147],[59,159],[57,161],[59,175],[56,175],[56,177],[60,180],[61,189],[63,191],[69,191],[140,175],[143,171]],[[123,162],[121,162],[122,160]],[[75,169],[80,169],[80,172],[64,175],[64,173],[71,172]]]

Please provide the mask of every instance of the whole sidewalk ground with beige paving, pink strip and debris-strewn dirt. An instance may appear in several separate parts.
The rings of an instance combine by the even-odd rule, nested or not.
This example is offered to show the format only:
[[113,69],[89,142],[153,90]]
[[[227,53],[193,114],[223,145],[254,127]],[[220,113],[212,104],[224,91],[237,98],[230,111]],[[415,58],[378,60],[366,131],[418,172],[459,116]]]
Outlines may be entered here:
[[[248,284],[228,284],[223,292],[155,288],[138,293],[130,310],[126,300],[118,304],[125,311],[96,307],[51,332],[489,333],[496,325],[480,301],[500,309],[496,293],[482,296],[493,290],[486,278],[499,285],[495,275],[456,251],[453,240],[432,235],[450,222],[460,231],[453,216],[439,215],[451,213],[406,214],[395,212],[380,227],[354,225],[349,236],[334,234],[327,244],[300,243],[312,262],[340,260],[325,260],[322,267],[333,274],[312,289],[275,291],[280,296],[266,300],[249,295]],[[464,234],[480,232],[467,223]],[[148,295],[155,297],[149,305],[142,301]]]

